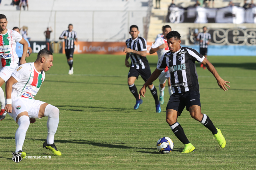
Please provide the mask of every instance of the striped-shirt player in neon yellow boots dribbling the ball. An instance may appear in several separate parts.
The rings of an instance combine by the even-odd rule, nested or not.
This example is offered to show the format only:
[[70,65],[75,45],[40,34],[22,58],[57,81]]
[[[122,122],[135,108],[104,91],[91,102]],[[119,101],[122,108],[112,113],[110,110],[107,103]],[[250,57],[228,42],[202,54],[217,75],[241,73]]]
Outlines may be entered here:
[[185,145],[183,153],[194,152],[195,150],[195,147],[188,141],[183,128],[177,122],[178,116],[185,107],[191,117],[211,130],[220,147],[224,148],[226,140],[221,134],[221,131],[215,128],[207,115],[201,113],[195,61],[206,65],[207,69],[216,78],[219,87],[224,91],[229,87],[227,85],[229,82],[220,78],[214,66],[203,55],[192,48],[181,47],[180,34],[177,31],[171,31],[167,34],[167,43],[170,52],[167,52],[161,57],[157,68],[141,88],[139,98],[140,96],[145,97],[146,87],[156,80],[162,70],[168,66],[173,94],[170,96],[166,107],[166,122],[169,124],[175,136]]

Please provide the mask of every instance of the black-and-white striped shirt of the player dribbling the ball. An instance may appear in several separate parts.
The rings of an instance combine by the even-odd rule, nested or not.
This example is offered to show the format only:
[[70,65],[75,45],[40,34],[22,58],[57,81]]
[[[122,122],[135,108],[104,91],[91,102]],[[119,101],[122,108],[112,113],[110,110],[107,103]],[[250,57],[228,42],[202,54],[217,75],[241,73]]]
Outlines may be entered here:
[[199,83],[195,69],[195,61],[202,63],[205,57],[196,50],[181,47],[176,53],[171,51],[163,55],[157,69],[164,70],[168,66],[173,93],[183,93],[189,90],[199,92]]

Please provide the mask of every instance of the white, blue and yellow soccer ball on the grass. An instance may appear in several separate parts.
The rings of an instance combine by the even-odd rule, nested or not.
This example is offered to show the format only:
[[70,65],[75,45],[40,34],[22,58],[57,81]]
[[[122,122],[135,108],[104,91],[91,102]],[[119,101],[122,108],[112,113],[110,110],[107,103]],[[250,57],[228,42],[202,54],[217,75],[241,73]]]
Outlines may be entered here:
[[167,154],[173,149],[173,142],[169,137],[161,137],[156,143],[157,150],[160,153]]

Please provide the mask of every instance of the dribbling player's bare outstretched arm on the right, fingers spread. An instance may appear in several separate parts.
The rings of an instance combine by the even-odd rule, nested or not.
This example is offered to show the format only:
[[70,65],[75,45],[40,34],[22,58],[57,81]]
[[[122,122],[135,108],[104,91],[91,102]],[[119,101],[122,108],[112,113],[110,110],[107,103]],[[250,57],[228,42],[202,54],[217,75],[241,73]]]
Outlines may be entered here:
[[[207,58],[204,58],[202,63],[207,67],[207,69],[211,72],[211,74],[216,78],[217,83],[219,85],[220,88],[222,88],[224,91],[227,90],[227,87],[230,88],[229,85],[227,85],[227,83],[230,83],[229,81],[225,81],[223,80],[217,70],[215,69],[215,67],[207,60]],[[227,86],[227,87],[226,87]]]

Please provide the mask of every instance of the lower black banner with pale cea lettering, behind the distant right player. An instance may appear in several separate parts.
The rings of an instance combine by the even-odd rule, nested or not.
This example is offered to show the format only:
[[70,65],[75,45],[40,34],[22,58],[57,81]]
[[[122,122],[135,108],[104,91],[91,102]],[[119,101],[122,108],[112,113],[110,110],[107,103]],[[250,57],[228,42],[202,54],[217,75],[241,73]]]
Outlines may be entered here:
[[[189,43],[196,44],[197,31],[189,28]],[[256,28],[209,28],[210,45],[256,45]]]

